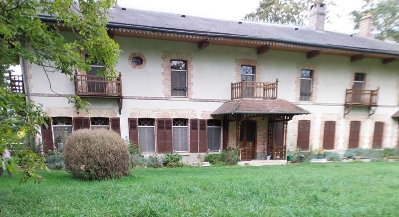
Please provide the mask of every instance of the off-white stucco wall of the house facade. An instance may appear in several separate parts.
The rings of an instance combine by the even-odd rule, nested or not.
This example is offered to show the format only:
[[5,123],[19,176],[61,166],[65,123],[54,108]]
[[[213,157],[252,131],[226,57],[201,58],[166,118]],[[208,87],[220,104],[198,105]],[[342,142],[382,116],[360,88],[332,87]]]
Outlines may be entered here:
[[[375,121],[385,122],[383,147],[394,147],[398,143],[398,121],[392,119],[391,115],[398,110],[398,81],[399,63],[382,64],[381,60],[364,59],[358,62],[350,62],[349,57],[320,55],[313,59],[307,59],[305,53],[270,50],[263,55],[256,55],[254,48],[242,48],[233,46],[221,46],[210,44],[205,49],[198,49],[198,44],[165,40],[153,40],[142,38],[129,38],[115,36],[114,40],[119,43],[120,54],[117,71],[122,73],[123,100],[122,113],[119,114],[116,100],[112,99],[89,99],[91,110],[111,109],[115,116],[121,120],[122,137],[128,136],[128,117],[132,115],[149,115],[144,111],[155,109],[170,112],[171,116],[180,117],[189,115],[190,118],[208,118],[209,113],[214,111],[223,102],[220,100],[230,99],[231,82],[236,82],[236,60],[256,60],[260,70],[260,81],[273,82],[276,78],[278,83],[278,97],[295,103],[301,108],[311,112],[309,115],[295,116],[288,125],[287,144],[296,146],[297,121],[299,119],[311,120],[310,145],[317,148],[322,144],[322,128],[324,121],[335,120],[336,144],[335,149],[342,150],[348,146],[349,123],[351,120],[362,121],[360,147],[371,148]],[[148,97],[164,98],[163,84],[163,51],[188,52],[193,60],[192,70],[192,99],[196,101],[180,101],[163,99],[151,100]],[[128,62],[132,52],[142,53],[147,64],[143,69],[133,69]],[[299,102],[298,76],[300,69],[312,69],[315,71],[312,102]],[[380,87],[378,105],[375,114],[368,116],[368,110],[353,108],[344,118],[345,89],[353,84],[355,72],[367,74],[366,89],[377,89]],[[42,69],[32,65],[31,93],[32,100],[43,105],[49,114],[62,112],[75,115],[73,105],[67,100],[55,97],[49,90],[47,78]],[[59,94],[74,94],[74,85],[69,77],[60,73],[49,74],[53,90]],[[43,95],[46,94],[46,95]],[[137,99],[135,97],[145,97]],[[147,97],[147,98],[146,98]],[[199,102],[214,100],[218,102]],[[140,113],[138,110],[142,110]],[[175,112],[180,110],[181,112]],[[151,113],[150,112],[150,113]],[[156,112],[155,112],[156,113]],[[184,113],[184,114],[183,114]],[[109,112],[111,115],[111,113]],[[91,114],[82,114],[88,115]],[[94,114],[93,114],[94,115]],[[145,117],[145,116],[140,116]],[[266,132],[265,132],[266,133]]]

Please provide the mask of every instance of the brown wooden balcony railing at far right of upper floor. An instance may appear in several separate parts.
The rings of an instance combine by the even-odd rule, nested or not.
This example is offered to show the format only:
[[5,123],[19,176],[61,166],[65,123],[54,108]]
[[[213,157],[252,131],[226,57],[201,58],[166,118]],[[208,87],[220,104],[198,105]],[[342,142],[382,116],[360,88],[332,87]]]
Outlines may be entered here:
[[377,106],[377,90],[346,89],[345,105]]

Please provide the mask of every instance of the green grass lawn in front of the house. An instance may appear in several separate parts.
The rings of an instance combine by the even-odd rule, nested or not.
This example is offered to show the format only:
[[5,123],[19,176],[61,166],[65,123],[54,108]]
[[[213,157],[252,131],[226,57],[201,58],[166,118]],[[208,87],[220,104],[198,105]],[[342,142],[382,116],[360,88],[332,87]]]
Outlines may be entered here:
[[0,216],[399,216],[399,162],[135,169],[0,179]]

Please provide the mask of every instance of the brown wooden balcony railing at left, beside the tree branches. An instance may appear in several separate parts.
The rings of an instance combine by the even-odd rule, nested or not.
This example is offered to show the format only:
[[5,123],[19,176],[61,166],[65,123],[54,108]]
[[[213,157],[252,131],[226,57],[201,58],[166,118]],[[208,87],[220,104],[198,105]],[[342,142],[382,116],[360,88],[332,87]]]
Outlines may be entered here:
[[121,73],[116,79],[108,80],[96,75],[73,76],[75,93],[78,96],[99,98],[122,98]]

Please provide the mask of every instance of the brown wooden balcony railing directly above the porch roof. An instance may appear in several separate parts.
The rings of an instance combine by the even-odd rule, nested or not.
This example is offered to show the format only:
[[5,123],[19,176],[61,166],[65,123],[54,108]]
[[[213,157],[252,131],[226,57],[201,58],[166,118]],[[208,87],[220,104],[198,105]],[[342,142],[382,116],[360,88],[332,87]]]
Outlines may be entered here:
[[274,100],[277,99],[277,85],[278,79],[276,82],[231,83],[231,100],[242,98]]

